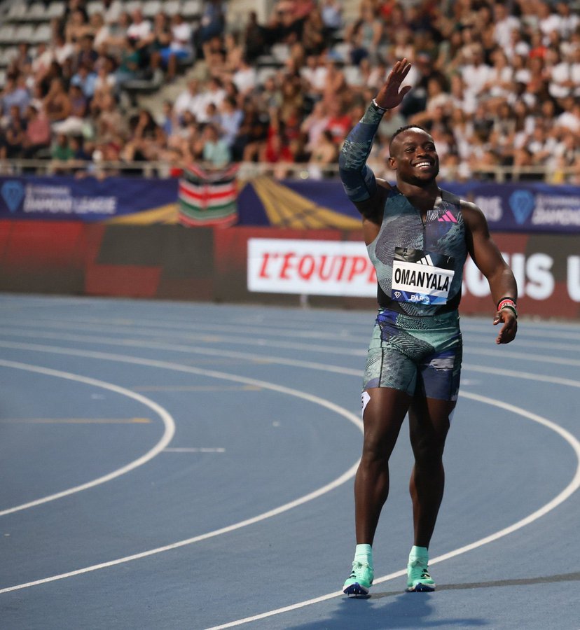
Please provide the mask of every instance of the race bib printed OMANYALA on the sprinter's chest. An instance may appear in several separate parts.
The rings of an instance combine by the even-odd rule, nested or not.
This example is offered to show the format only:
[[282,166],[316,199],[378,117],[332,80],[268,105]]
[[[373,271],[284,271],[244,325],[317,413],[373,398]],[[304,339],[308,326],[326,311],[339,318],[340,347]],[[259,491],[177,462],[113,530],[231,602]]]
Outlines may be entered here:
[[395,247],[391,298],[396,302],[446,304],[455,259],[410,247]]

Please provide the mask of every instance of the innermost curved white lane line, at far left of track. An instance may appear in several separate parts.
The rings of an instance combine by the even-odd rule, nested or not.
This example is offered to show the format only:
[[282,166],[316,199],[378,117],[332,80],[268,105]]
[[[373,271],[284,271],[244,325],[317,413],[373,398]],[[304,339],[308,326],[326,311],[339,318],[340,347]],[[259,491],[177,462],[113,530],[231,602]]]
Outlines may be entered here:
[[137,400],[137,402],[141,402],[142,405],[146,405],[149,409],[152,409],[153,412],[158,414],[160,419],[163,421],[163,435],[157,444],[147,451],[141,457],[135,459],[134,461],[128,463],[117,470],[113,470],[113,472],[109,472],[107,475],[103,475],[102,477],[98,477],[97,479],[92,479],[90,482],[86,482],[85,484],[81,484],[79,486],[74,486],[73,488],[69,488],[67,490],[63,490],[60,492],[56,492],[54,494],[50,494],[48,496],[43,496],[34,501],[29,501],[28,503],[22,503],[22,505],[15,505],[14,507],[8,507],[6,510],[0,510],[0,517],[5,516],[6,514],[12,514],[13,512],[18,512],[20,510],[27,510],[29,507],[35,507],[36,505],[41,505],[42,503],[48,503],[48,501],[54,501],[56,499],[62,498],[64,496],[69,496],[76,492],[81,492],[83,490],[88,490],[90,488],[94,488],[99,484],[104,484],[106,482],[111,481],[111,479],[116,479],[121,475],[125,475],[130,470],[134,470],[135,468],[139,468],[139,466],[144,465],[148,461],[151,461],[153,457],[157,456],[167,444],[169,444],[175,433],[175,423],[169,412],[166,409],[158,405],[157,402],[153,402],[153,400],[146,398],[145,396],[135,393],[134,391],[130,391],[130,389],[125,389],[119,385],[115,385],[113,383],[106,383],[105,381],[100,381],[98,379],[91,379],[89,377],[83,377],[79,374],[72,374],[71,372],[62,372],[61,370],[52,370],[49,367],[41,367],[40,365],[29,365],[28,363],[19,363],[17,361],[8,361],[8,360],[0,360],[0,365],[3,367],[10,367],[14,370],[25,370],[26,372],[36,372],[38,374],[45,374],[47,376],[57,377],[59,379],[67,379],[69,381],[77,381],[78,383],[84,383],[86,385],[91,385],[93,387],[99,387],[102,389],[108,389],[109,391],[114,391],[123,396],[127,396],[127,398],[132,398],[133,400]]

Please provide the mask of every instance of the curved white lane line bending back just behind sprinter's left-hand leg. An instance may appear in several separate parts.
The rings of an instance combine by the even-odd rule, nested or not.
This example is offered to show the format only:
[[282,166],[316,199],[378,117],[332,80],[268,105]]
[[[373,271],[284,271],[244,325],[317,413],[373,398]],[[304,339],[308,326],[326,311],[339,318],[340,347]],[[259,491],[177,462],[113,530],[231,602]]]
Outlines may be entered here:
[[[315,405],[326,407],[326,409],[329,409],[330,411],[335,412],[339,416],[343,416],[343,418],[350,421],[362,433],[362,421],[359,418],[359,416],[347,411],[347,409],[345,409],[344,407],[340,407],[339,405],[336,405],[336,403],[331,402],[330,400],[326,400],[325,398],[320,398],[319,396],[316,396],[307,392],[303,392],[297,389],[292,389],[292,388],[285,387],[282,385],[269,383],[268,381],[249,379],[247,377],[238,376],[237,374],[226,374],[224,372],[216,372],[214,370],[201,370],[196,367],[190,367],[189,365],[181,365],[180,363],[168,363],[166,361],[142,359],[142,358],[126,356],[126,355],[109,354],[106,352],[83,351],[83,350],[76,350],[76,349],[60,348],[58,346],[40,346],[38,344],[18,344],[18,343],[11,343],[11,342],[0,342],[0,346],[4,346],[8,348],[15,348],[15,349],[22,349],[22,350],[62,354],[62,355],[67,355],[67,356],[83,356],[86,358],[96,358],[99,360],[118,361],[120,363],[131,363],[134,365],[145,365],[148,367],[160,367],[165,370],[175,370],[177,372],[188,372],[191,374],[202,374],[204,376],[217,378],[217,379],[223,379],[226,381],[234,381],[234,382],[246,383],[250,385],[257,385],[264,389],[270,389],[271,391],[276,391],[279,393],[295,396],[296,398],[302,398],[303,400],[312,402]],[[8,362],[8,363],[13,363],[13,362]],[[48,368],[40,368],[40,369],[48,370]],[[55,371],[56,370],[50,370],[50,372],[55,372]],[[65,374],[66,372],[62,372],[62,373]],[[93,379],[88,379],[88,380],[93,380]],[[134,394],[134,395],[138,396],[138,394]],[[68,573],[61,573],[60,575],[52,575],[50,577],[44,577],[41,580],[34,580],[33,582],[26,582],[25,584],[15,584],[15,586],[0,589],[0,594],[8,593],[10,591],[17,591],[20,589],[26,589],[29,587],[37,586],[39,584],[46,584],[47,582],[55,582],[55,580],[64,580],[64,578],[66,577],[73,577],[74,575],[82,575],[83,573],[90,573],[91,571],[99,570],[102,568],[108,568],[111,566],[116,566],[118,564],[123,564],[125,562],[130,562],[132,560],[146,558],[147,556],[153,556],[155,554],[160,554],[162,552],[171,551],[172,549],[178,549],[179,547],[191,545],[194,542],[200,542],[200,540],[207,540],[207,538],[214,538],[214,536],[218,536],[224,533],[229,533],[231,531],[235,531],[242,527],[253,525],[265,519],[275,517],[277,516],[277,514],[282,514],[282,512],[291,510],[294,507],[297,507],[298,505],[303,505],[304,503],[308,503],[309,501],[315,500],[316,498],[319,498],[320,496],[323,496],[324,494],[338,488],[338,486],[341,486],[345,482],[352,479],[352,477],[354,477],[355,473],[357,472],[358,467],[359,467],[359,461],[357,460],[346,472],[343,472],[343,474],[340,475],[340,477],[333,479],[333,481],[331,481],[329,484],[326,484],[325,486],[322,486],[321,488],[315,491],[312,491],[304,496],[296,498],[290,501],[289,503],[285,503],[284,505],[275,507],[273,510],[268,510],[268,512],[263,512],[263,514],[258,514],[258,516],[256,517],[251,517],[249,519],[240,521],[233,525],[222,527],[220,529],[216,529],[214,531],[210,531],[208,533],[201,534],[198,536],[194,536],[193,538],[187,538],[186,540],[179,540],[179,542],[173,542],[170,545],[164,545],[163,547],[157,547],[156,549],[149,549],[148,551],[145,551],[145,552],[132,554],[131,556],[125,556],[123,558],[118,558],[116,560],[111,560],[108,562],[80,568],[77,570],[69,571]],[[46,500],[50,500],[50,499],[47,498]]]

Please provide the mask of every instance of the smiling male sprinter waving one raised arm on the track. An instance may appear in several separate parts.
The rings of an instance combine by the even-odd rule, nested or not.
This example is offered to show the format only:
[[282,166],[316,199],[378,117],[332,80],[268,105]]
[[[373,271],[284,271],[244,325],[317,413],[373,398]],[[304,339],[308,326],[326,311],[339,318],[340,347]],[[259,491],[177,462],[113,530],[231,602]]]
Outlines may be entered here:
[[378,316],[364,372],[364,442],[354,482],[357,547],[348,595],[373,583],[372,545],[389,493],[389,456],[409,414],[415,465],[410,477],[414,545],[408,591],[432,591],[429,541],[443,497],[443,447],[457,402],[462,339],[457,307],[467,253],[488,279],[502,322],[496,342],[516,336],[518,288],[478,207],[441,190],[431,136],[403,127],[391,139],[396,186],[376,180],[366,165],[383,113],[401,103],[410,64],[396,62],[385,85],[340,152],[345,192],[362,215],[368,255],[378,278]]

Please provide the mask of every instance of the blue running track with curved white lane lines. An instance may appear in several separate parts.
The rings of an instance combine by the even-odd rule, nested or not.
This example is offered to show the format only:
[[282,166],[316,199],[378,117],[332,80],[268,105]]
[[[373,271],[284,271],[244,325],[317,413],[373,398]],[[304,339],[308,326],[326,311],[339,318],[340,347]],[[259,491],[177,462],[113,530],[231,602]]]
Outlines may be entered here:
[[373,311],[0,296],[0,627],[578,630],[580,325],[462,318],[462,394],[406,594],[401,432],[354,551]]

